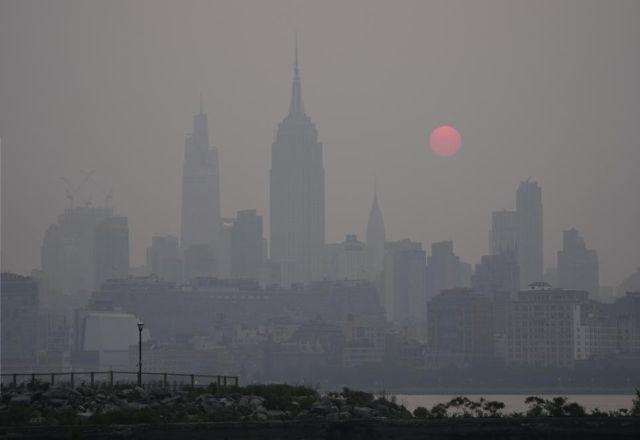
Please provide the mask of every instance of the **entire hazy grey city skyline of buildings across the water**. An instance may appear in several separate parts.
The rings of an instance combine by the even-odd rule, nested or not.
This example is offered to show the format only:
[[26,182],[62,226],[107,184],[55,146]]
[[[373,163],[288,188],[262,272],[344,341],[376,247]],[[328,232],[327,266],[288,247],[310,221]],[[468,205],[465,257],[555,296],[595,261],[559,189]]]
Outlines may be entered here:
[[41,271],[2,276],[3,368],[135,368],[138,320],[147,368],[213,365],[247,381],[318,383],[367,365],[443,377],[452,366],[572,370],[640,356],[640,270],[614,302],[596,251],[571,228],[543,274],[542,190],[530,179],[515,209],[492,212],[475,265],[451,239],[391,239],[375,182],[366,224],[326,243],[323,145],[303,107],[297,47],[271,145],[269,241],[256,209],[222,215],[220,167],[201,102],[184,146],[180,233],[153,235],[138,268],[127,217],[108,203],[74,207],[68,188]]

